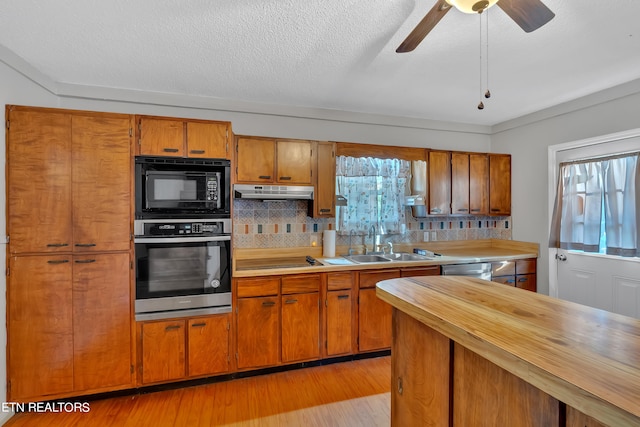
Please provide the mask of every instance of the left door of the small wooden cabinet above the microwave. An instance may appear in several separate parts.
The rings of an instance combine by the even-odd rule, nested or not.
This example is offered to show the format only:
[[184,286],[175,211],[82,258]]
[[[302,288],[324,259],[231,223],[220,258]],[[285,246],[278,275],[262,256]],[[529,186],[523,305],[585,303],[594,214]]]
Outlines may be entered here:
[[138,127],[140,154],[184,157],[184,121],[141,117]]

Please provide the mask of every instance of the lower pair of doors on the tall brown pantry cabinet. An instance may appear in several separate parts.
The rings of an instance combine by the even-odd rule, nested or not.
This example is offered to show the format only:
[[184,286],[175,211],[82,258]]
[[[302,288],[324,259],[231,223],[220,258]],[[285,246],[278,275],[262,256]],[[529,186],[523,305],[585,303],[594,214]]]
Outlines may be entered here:
[[10,400],[133,385],[128,253],[18,256],[9,271]]

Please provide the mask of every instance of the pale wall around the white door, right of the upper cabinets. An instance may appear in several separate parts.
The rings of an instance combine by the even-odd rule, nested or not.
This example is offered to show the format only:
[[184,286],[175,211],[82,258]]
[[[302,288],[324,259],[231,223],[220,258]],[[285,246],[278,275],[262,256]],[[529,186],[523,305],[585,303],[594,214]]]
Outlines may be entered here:
[[[530,124],[502,124],[491,136],[491,151],[512,155],[512,237],[514,240],[538,242],[538,292],[549,293],[549,213],[548,147],[640,127],[640,91],[634,82],[621,95],[616,88],[603,100],[602,94],[586,98],[571,106],[550,110],[550,114]],[[616,96],[621,96],[615,98]],[[592,104],[592,105],[589,105]],[[571,107],[578,109],[569,111]],[[554,115],[556,114],[556,115]],[[535,117],[531,117],[535,119]],[[521,122],[521,121],[519,121]]]

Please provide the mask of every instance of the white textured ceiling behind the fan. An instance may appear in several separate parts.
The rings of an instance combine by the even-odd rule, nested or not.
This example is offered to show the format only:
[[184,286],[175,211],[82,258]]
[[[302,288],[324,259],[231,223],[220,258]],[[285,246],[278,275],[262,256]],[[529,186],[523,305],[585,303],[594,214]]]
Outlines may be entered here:
[[452,10],[415,51],[395,52],[435,0],[3,0],[0,45],[89,92],[480,125],[640,78],[640,1],[543,1],[556,16],[532,33],[488,11],[482,111],[478,16]]

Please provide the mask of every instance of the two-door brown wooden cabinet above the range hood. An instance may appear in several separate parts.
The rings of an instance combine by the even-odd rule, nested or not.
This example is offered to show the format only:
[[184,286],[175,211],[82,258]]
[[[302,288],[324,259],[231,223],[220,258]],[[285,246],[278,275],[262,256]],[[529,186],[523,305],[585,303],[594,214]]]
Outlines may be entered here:
[[313,184],[315,141],[239,136],[236,182]]

